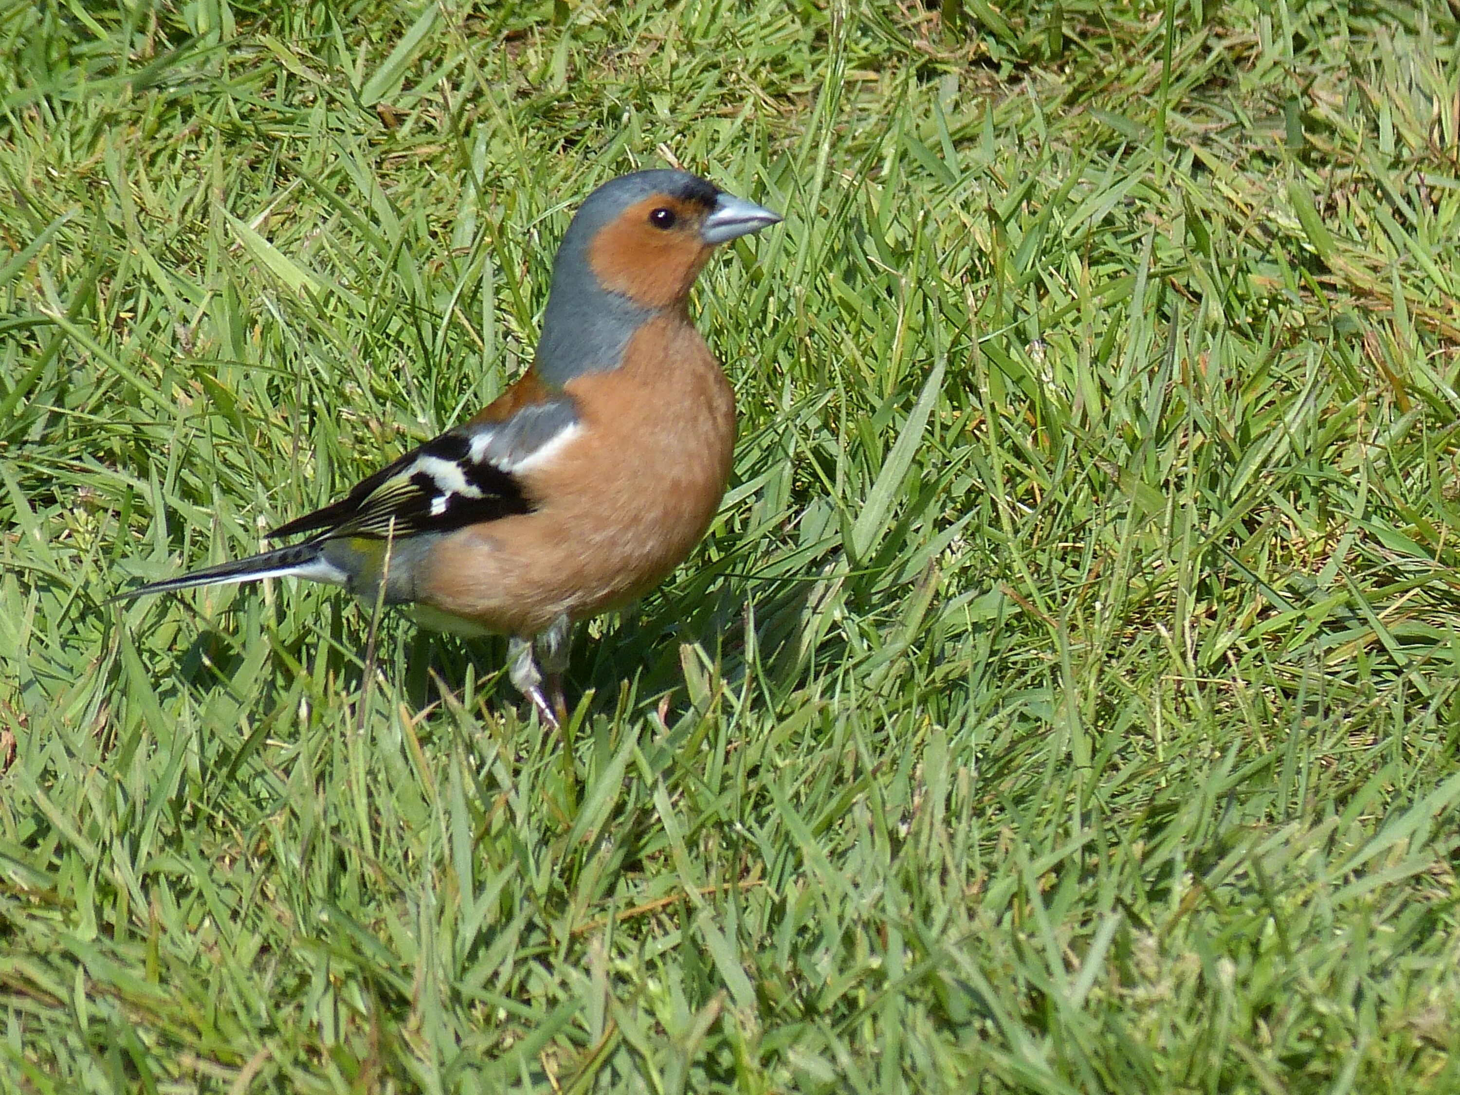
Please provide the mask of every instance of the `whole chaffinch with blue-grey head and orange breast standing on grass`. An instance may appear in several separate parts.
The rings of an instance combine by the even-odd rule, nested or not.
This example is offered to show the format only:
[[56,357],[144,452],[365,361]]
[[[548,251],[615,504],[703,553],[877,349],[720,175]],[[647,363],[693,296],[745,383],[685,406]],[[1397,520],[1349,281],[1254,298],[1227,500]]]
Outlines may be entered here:
[[658,585],[720,508],[734,393],[689,291],[780,220],[680,169],[609,180],[558,247],[531,366],[485,410],[269,533],[304,539],[114,600],[293,577],[415,606],[505,635],[508,679],[556,729],[572,626]]

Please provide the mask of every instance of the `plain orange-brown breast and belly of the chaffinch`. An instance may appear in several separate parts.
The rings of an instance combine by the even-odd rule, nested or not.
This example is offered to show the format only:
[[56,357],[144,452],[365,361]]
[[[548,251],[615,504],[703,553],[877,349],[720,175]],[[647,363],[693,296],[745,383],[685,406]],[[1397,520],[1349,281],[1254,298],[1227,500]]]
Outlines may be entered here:
[[568,381],[581,434],[524,474],[539,508],[445,537],[422,600],[531,635],[657,585],[714,518],[734,451],[734,397],[683,317],[645,324],[625,364]]

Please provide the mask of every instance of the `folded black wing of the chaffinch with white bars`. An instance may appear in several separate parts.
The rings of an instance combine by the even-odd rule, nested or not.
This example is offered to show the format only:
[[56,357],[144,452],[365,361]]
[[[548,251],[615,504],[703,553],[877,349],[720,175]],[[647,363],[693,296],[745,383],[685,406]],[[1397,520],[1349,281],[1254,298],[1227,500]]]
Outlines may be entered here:
[[514,385],[469,423],[406,453],[340,501],[269,536],[403,539],[530,512],[533,502],[520,473],[577,431],[572,396],[539,383]]

